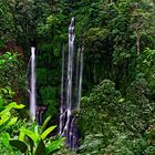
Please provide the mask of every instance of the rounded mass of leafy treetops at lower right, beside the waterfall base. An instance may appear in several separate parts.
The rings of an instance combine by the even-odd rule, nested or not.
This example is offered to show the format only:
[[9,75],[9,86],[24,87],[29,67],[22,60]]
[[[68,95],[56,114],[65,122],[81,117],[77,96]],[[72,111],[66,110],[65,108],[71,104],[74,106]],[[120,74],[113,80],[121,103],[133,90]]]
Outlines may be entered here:
[[155,103],[146,97],[147,91],[142,76],[127,87],[126,97],[115,90],[112,81],[104,80],[89,97],[83,97],[79,115],[85,137],[82,153],[153,154],[154,137],[149,132],[154,131]]

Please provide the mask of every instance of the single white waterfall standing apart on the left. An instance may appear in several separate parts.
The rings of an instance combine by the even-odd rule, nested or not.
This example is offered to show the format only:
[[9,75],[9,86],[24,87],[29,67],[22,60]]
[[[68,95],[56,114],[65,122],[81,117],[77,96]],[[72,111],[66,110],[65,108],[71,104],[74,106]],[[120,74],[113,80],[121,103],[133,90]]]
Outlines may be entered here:
[[31,48],[31,78],[30,78],[30,115],[35,120],[35,48]]

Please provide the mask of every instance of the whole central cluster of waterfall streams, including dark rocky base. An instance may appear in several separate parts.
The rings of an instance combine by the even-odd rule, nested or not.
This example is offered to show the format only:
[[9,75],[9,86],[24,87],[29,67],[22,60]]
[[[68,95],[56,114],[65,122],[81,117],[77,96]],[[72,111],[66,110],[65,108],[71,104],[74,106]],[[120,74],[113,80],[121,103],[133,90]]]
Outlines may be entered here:
[[[69,52],[62,50],[61,106],[59,134],[66,137],[71,148],[79,146],[80,131],[75,125],[73,110],[80,110],[83,73],[83,46],[74,49],[74,18],[69,25]],[[75,65],[74,65],[75,64]],[[74,68],[75,66],[75,68]],[[75,74],[75,79],[73,78]]]

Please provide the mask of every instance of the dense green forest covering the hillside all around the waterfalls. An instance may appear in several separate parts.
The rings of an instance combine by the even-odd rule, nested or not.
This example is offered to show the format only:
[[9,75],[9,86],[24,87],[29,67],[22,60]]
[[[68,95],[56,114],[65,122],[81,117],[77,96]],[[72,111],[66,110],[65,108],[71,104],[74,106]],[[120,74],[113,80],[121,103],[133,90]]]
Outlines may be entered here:
[[[59,154],[155,154],[154,0],[1,0],[1,111],[13,100],[27,101],[27,64],[34,45],[38,104],[46,106],[49,124],[58,123],[61,51],[68,52],[71,17],[75,52],[84,45],[83,97],[75,112],[82,137],[76,153],[66,148]],[[1,148],[8,146],[8,133],[19,135],[20,123],[13,132],[7,127]],[[12,152],[7,148],[2,153]]]

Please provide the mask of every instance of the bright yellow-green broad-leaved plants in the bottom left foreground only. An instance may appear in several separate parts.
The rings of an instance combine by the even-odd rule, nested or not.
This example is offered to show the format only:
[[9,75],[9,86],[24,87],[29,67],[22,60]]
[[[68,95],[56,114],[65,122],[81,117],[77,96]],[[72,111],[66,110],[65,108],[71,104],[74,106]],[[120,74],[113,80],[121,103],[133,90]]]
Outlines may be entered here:
[[[49,155],[58,152],[64,138],[56,140],[46,137],[56,126],[51,126],[45,130],[45,124],[40,127],[37,124],[32,126],[24,121],[19,121],[11,110],[22,108],[23,106],[24,105],[17,104],[16,102],[7,106],[1,105],[1,108],[3,107],[4,110],[0,112],[0,153]],[[20,125],[22,125],[22,127]],[[16,128],[17,126],[18,128]],[[30,127],[30,130],[28,130],[28,127]],[[34,132],[31,131],[32,128]],[[18,133],[19,136],[17,137]],[[13,136],[13,138],[11,138],[11,136]]]

